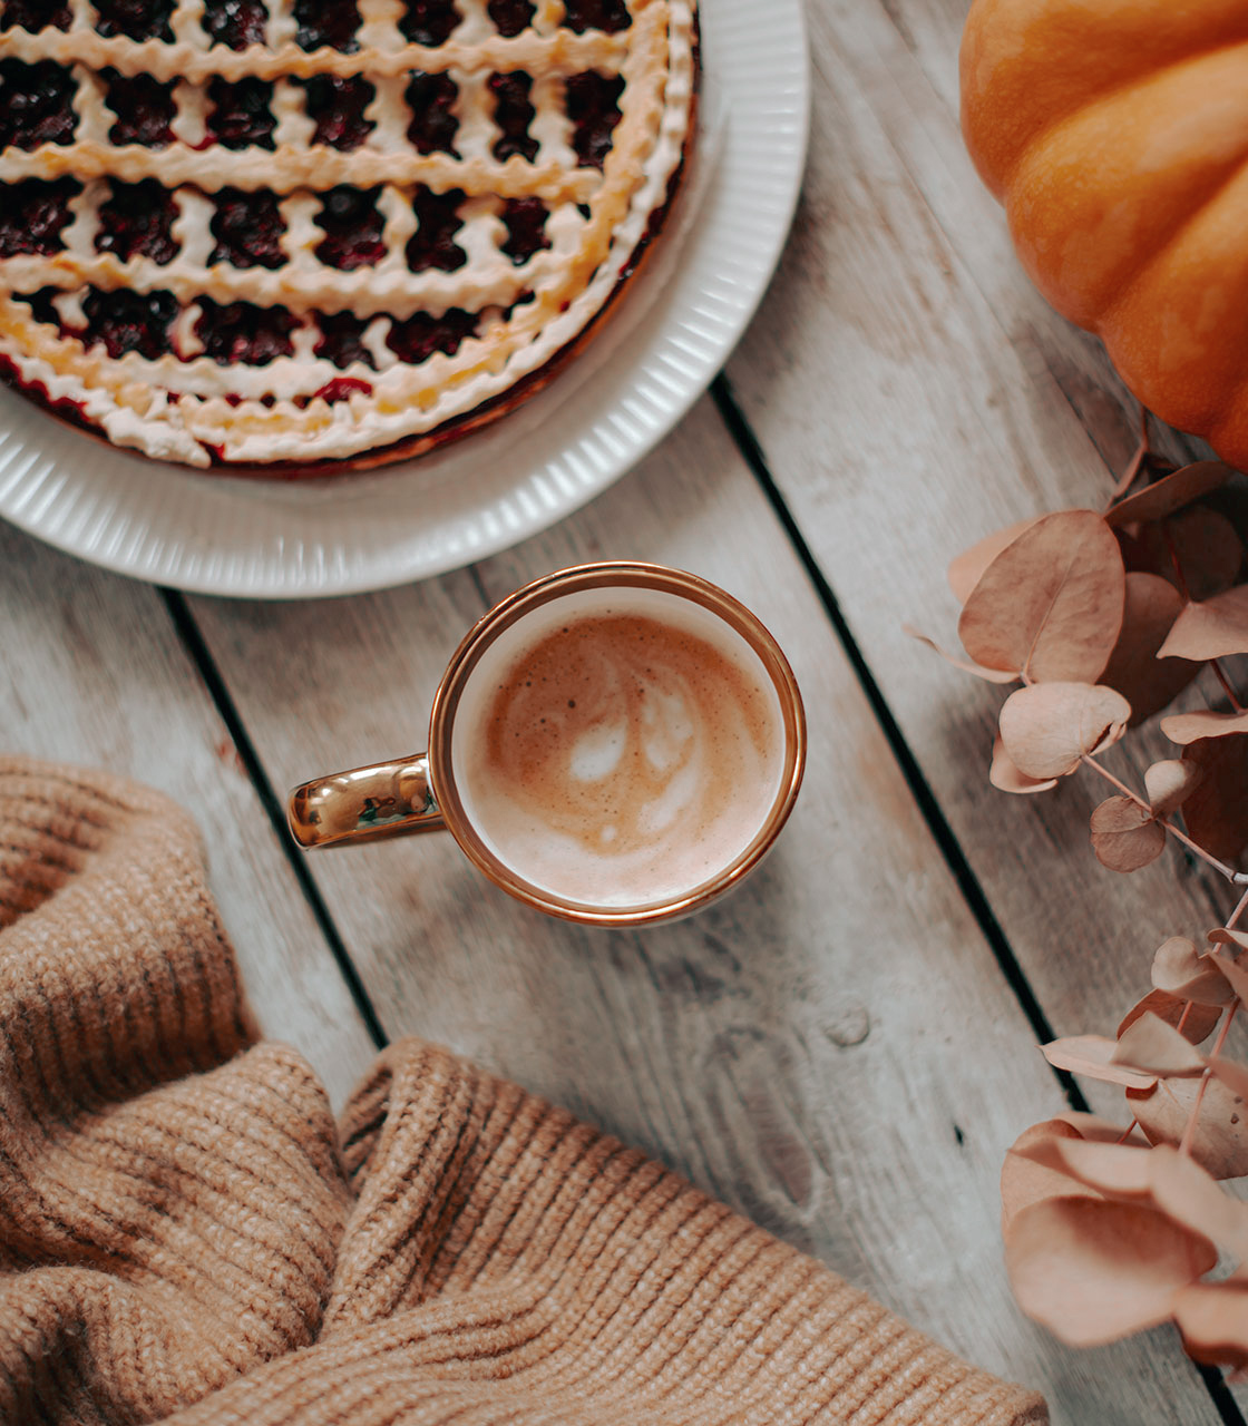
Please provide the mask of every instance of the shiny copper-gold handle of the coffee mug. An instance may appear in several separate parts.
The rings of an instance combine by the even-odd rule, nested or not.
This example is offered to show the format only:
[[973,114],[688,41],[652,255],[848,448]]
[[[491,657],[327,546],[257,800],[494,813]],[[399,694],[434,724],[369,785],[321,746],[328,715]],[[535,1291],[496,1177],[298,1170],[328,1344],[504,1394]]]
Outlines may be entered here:
[[429,783],[428,753],[304,783],[290,796],[287,819],[301,847],[377,841],[446,826]]

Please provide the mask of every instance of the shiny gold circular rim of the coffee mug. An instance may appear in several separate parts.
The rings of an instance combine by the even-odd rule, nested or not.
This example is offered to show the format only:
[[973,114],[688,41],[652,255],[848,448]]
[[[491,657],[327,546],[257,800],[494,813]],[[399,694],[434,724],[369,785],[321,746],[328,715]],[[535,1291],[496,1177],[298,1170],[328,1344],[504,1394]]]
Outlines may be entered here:
[[[686,597],[723,619],[746,640],[772,680],[780,703],[784,734],[780,786],[762,826],[749,844],[713,877],[699,881],[687,891],[658,901],[623,907],[575,901],[571,897],[536,887],[512,871],[503,858],[485,844],[465,811],[451,757],[455,712],[461,694],[472,670],[493,640],[531,610],[563,595],[610,588],[666,590]],[[468,630],[451,656],[434,694],[429,710],[428,760],[429,783],[446,830],[469,861],[495,886],[526,906],[565,921],[606,927],[653,925],[689,915],[716,900],[742,881],[772,848],[780,829],[789,820],[806,771],[806,710],[797,679],[793,676],[789,660],[776,637],[762,619],[739,599],[700,575],[668,565],[653,565],[643,560],[593,560],[583,565],[569,565],[531,580],[499,600]]]

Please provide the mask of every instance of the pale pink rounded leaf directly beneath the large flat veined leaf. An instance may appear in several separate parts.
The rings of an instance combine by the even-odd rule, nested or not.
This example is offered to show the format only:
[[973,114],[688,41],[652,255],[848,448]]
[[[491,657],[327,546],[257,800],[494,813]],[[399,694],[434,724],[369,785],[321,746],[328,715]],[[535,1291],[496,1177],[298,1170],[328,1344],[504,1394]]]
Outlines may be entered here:
[[1115,743],[1131,706],[1094,683],[1034,683],[1001,704],[1001,742],[1028,777],[1064,777],[1085,753]]

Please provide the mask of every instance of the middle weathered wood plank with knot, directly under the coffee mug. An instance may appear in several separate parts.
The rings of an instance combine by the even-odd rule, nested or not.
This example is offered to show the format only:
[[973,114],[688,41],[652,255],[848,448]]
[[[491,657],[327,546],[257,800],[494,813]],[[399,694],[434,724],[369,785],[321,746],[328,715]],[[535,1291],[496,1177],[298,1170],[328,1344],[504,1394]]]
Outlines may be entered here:
[[388,1031],[449,1044],[642,1144],[1057,1419],[1208,1420],[1178,1352],[1071,1353],[1004,1282],[997,1175],[1060,1108],[1027,1025],[757,485],[703,402],[588,511],[475,570],[348,602],[193,607],[274,781],[422,746],[468,625],[593,558],[692,568],[755,607],[810,714],[807,783],[752,881],[643,934],[485,884],[448,837],[310,861]]

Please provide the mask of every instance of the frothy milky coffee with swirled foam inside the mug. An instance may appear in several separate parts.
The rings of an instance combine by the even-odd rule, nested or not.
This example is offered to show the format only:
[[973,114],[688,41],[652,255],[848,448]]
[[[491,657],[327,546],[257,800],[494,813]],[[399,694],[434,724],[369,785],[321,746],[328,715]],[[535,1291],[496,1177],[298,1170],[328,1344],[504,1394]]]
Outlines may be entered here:
[[779,699],[746,640],[690,600],[629,589],[508,633],[469,679],[454,739],[493,854],[603,907],[679,897],[732,866],[784,760]]

